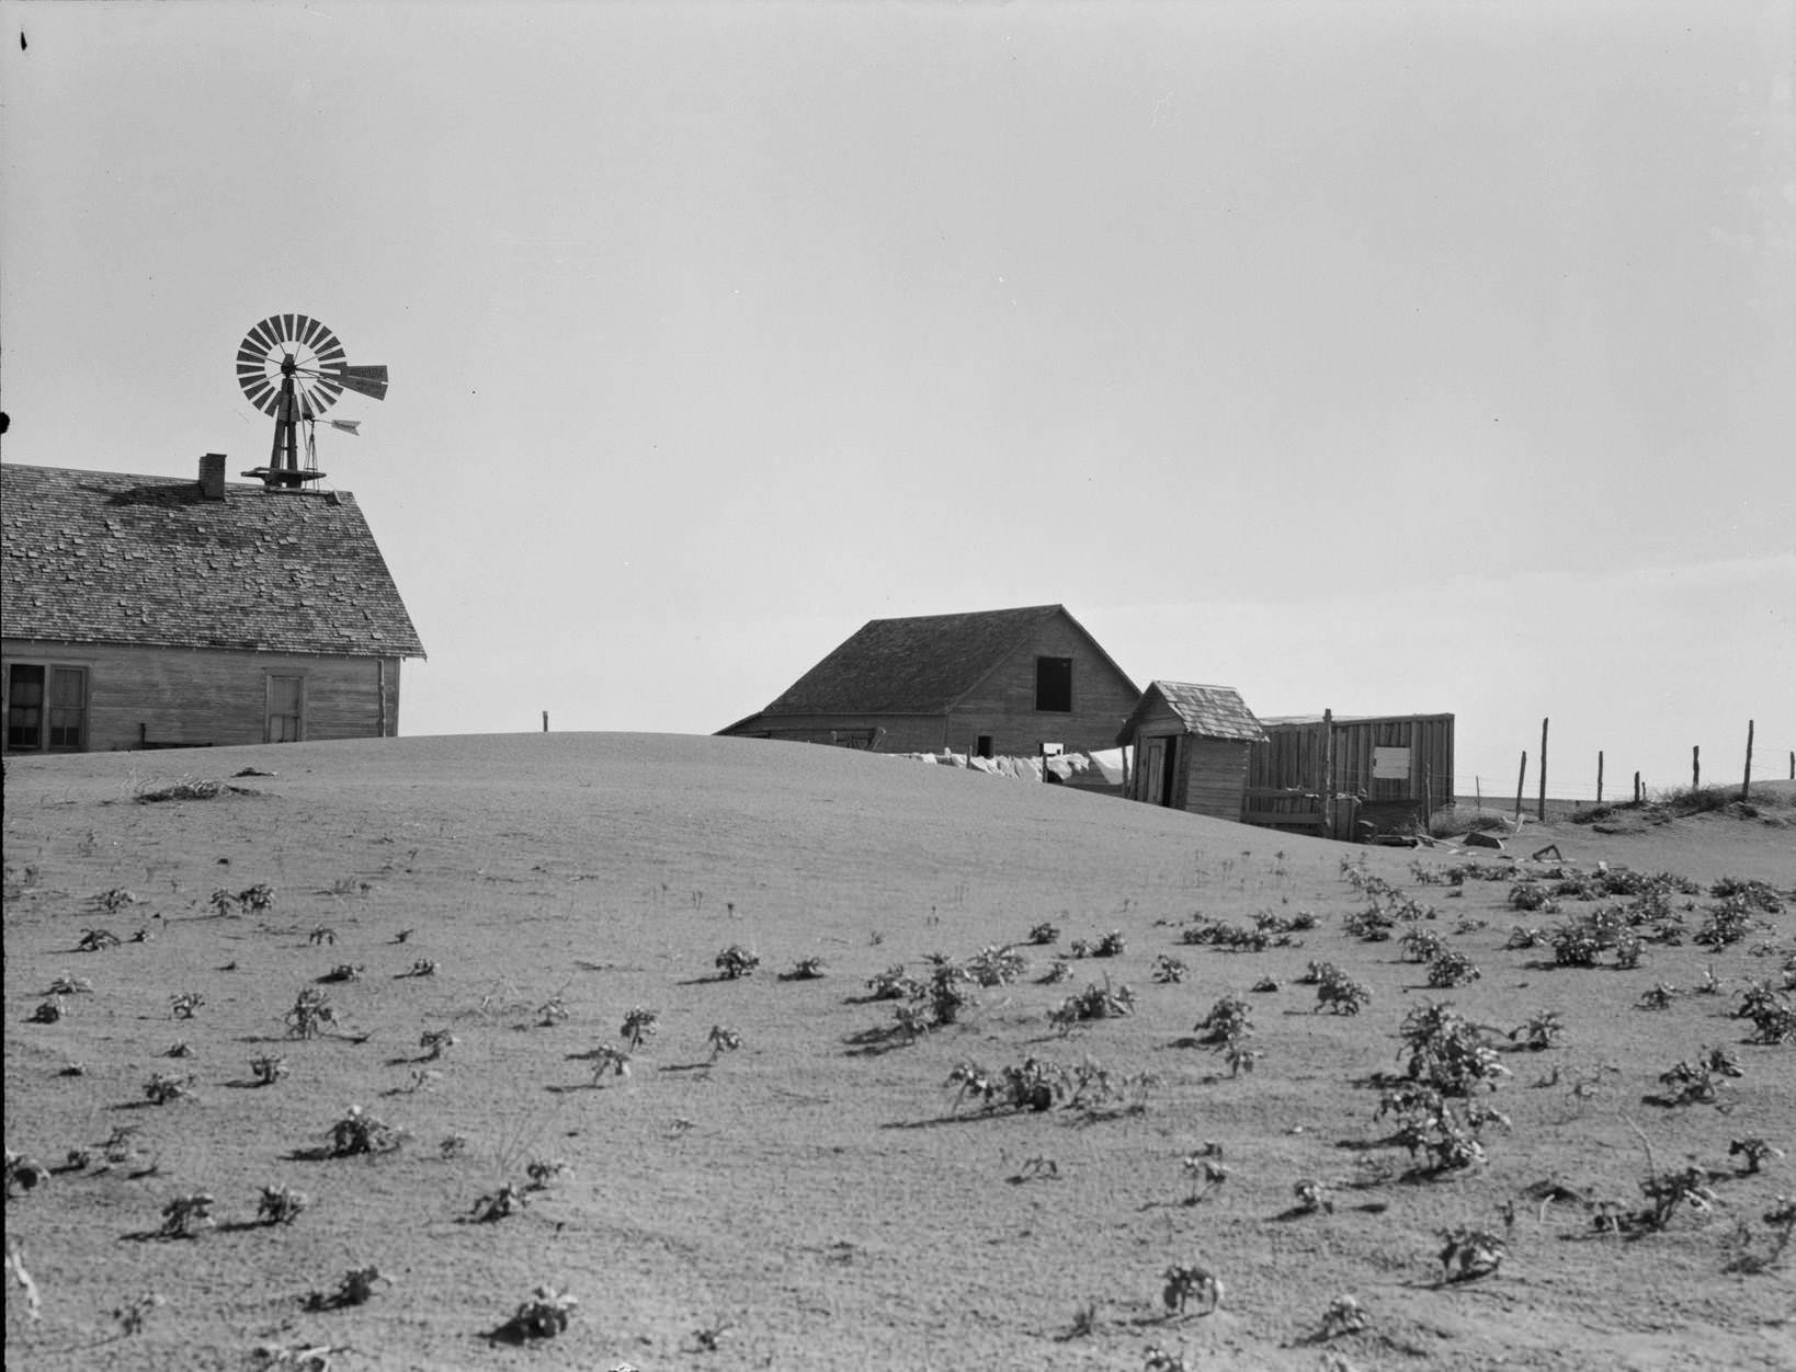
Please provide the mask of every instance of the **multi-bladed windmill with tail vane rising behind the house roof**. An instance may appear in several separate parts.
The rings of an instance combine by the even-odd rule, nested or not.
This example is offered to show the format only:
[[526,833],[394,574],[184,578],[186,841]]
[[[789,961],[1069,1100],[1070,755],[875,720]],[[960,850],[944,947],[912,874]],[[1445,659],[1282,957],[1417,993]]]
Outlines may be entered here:
[[[244,476],[262,478],[269,488],[298,490],[316,481],[318,417],[350,390],[386,399],[384,366],[350,366],[343,345],[318,320],[305,314],[269,314],[237,345],[237,384],[250,404],[275,418],[275,447],[266,467]],[[305,465],[300,467],[300,426],[305,426]],[[356,433],[361,420],[327,420],[336,429]]]

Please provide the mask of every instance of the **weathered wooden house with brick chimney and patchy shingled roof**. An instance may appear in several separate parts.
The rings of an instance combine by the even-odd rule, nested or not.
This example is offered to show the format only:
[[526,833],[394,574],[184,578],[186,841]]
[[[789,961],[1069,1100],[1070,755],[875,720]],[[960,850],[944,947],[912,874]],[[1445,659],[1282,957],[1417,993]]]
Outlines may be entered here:
[[399,731],[424,645],[347,492],[0,465],[7,752]]

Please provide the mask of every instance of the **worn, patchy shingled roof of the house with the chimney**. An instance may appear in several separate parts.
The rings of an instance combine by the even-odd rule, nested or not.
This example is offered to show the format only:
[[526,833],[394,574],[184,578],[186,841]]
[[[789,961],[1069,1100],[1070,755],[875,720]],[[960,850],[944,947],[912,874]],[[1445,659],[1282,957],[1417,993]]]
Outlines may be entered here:
[[0,463],[5,636],[424,657],[347,492]]

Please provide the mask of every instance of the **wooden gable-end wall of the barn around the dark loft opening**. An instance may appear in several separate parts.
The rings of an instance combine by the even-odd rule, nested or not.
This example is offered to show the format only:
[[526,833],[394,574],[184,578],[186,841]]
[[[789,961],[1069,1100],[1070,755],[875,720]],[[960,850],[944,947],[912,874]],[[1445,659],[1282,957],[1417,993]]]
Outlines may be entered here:
[[[1036,657],[1072,659],[1070,711],[1034,708]],[[1133,682],[1076,625],[1054,616],[955,700],[946,720],[948,745],[972,749],[979,734],[991,734],[993,752],[1015,758],[1036,756],[1042,743],[1063,743],[1069,752],[1115,747],[1117,729],[1137,700]]]

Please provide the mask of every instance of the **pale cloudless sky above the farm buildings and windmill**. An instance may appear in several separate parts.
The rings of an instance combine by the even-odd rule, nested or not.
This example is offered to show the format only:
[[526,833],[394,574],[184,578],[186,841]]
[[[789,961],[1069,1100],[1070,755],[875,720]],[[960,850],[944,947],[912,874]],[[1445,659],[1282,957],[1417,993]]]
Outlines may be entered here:
[[1791,0],[0,14],[5,460],[262,465],[237,341],[329,323],[408,734],[1060,602],[1460,790],[1789,770]]

